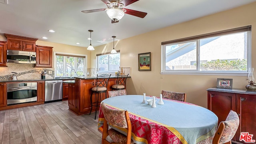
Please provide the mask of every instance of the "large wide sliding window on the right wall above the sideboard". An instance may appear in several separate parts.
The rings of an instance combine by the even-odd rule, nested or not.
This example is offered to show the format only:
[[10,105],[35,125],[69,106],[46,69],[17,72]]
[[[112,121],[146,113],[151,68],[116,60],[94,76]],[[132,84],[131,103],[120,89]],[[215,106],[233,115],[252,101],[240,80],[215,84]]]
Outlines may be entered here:
[[163,73],[245,74],[251,26],[162,42]]

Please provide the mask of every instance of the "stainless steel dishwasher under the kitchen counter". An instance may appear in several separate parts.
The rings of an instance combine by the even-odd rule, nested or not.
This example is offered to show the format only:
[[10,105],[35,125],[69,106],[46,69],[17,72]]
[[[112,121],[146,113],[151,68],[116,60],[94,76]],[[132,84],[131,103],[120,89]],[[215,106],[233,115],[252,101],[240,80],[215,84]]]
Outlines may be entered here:
[[59,100],[62,100],[62,80],[46,80],[44,102]]

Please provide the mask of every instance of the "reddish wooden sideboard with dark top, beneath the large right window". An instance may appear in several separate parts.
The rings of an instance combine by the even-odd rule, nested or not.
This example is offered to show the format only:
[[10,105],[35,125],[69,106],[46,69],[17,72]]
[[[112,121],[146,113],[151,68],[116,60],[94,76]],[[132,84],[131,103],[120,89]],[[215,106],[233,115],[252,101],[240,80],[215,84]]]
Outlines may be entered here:
[[207,91],[208,109],[218,116],[218,124],[226,120],[230,110],[239,116],[240,124],[232,142],[248,143],[239,140],[241,132],[253,134],[252,140],[256,140],[256,91],[222,88]]

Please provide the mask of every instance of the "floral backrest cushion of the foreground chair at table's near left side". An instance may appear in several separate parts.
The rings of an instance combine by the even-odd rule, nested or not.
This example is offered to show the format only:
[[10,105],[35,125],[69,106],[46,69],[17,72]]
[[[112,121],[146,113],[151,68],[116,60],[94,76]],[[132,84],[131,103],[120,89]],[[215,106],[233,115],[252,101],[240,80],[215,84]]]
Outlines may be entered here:
[[125,117],[125,110],[114,110],[108,108],[106,104],[101,104],[101,110],[104,114],[104,118],[109,124],[117,126],[119,128],[127,128],[127,122]]

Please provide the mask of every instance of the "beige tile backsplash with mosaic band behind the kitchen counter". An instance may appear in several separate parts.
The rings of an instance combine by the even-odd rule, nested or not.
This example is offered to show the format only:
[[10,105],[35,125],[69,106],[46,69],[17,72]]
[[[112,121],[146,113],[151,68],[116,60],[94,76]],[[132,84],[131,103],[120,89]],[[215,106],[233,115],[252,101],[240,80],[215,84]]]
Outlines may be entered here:
[[[10,80],[11,76],[16,72],[18,80],[41,79],[41,71],[46,70],[46,79],[54,78],[54,68],[37,68],[35,64],[16,64],[8,63],[7,67],[0,67],[0,81]],[[52,74],[49,74],[52,71]]]

